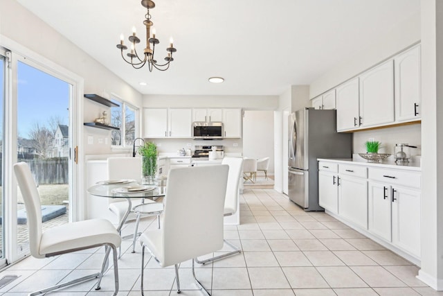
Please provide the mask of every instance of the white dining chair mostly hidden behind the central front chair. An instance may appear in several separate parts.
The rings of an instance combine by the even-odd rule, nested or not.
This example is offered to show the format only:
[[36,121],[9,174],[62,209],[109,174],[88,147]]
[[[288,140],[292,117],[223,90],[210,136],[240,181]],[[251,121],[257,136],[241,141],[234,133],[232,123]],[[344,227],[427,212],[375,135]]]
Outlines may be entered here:
[[[221,164],[227,164],[229,166],[228,183],[226,184],[226,197],[224,200],[224,216],[226,217],[232,216],[237,212],[238,209],[239,183],[242,175],[243,159],[239,157],[224,157],[224,159],[221,161]],[[195,261],[200,264],[205,264],[210,261],[215,261],[227,256],[240,254],[242,252],[242,250],[233,243],[230,243],[226,239],[224,239],[223,241],[224,243],[226,243],[226,245],[232,247],[233,251],[226,252],[219,256],[215,256],[205,260],[196,259]]]

